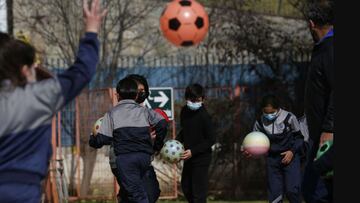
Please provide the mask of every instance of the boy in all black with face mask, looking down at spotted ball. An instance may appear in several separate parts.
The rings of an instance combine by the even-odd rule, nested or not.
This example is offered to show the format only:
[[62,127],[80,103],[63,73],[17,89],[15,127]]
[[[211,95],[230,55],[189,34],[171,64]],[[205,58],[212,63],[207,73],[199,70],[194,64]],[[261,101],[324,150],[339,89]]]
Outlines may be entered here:
[[186,88],[187,104],[181,109],[181,131],[177,136],[186,149],[182,156],[181,187],[190,203],[206,202],[211,146],[215,143],[214,126],[203,105],[204,92],[199,84]]

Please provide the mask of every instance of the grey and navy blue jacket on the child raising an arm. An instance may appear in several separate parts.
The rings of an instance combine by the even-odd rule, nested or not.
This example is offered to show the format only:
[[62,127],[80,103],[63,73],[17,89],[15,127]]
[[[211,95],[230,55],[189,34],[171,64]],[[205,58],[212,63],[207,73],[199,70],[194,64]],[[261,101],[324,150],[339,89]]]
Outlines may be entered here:
[[90,82],[99,59],[97,34],[81,39],[75,63],[54,78],[0,89],[0,184],[40,184],[51,157],[51,120]]

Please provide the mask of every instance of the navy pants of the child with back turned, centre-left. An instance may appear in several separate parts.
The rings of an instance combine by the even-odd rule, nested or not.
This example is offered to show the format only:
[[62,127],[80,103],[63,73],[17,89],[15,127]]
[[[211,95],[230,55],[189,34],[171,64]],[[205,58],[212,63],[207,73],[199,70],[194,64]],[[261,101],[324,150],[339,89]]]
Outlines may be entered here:
[[116,156],[120,196],[124,197],[120,202],[149,202],[144,178],[150,164],[151,156],[146,153],[136,152]]

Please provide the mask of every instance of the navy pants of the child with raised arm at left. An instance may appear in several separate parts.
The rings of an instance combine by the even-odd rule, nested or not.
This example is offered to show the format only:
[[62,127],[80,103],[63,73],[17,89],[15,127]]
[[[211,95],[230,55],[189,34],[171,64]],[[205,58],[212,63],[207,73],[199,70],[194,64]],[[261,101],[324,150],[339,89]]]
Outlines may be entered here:
[[39,203],[40,198],[40,185],[0,183],[1,203]]

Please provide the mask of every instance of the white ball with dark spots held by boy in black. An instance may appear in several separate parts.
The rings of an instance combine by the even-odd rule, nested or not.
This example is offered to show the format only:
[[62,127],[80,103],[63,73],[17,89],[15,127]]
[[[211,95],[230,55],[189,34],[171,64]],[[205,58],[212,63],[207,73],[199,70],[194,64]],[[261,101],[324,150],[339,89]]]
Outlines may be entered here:
[[169,163],[178,163],[184,150],[184,146],[179,141],[168,140],[160,151],[161,158]]

